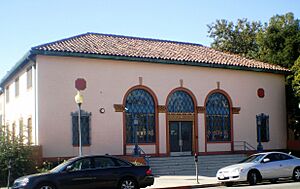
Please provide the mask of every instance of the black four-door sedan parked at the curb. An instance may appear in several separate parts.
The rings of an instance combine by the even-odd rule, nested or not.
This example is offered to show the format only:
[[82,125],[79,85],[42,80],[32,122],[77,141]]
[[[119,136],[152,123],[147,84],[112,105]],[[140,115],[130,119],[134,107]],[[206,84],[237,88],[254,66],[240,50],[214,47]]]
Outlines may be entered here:
[[114,156],[69,159],[51,171],[15,180],[13,189],[143,188],[154,183],[149,166],[135,166]]

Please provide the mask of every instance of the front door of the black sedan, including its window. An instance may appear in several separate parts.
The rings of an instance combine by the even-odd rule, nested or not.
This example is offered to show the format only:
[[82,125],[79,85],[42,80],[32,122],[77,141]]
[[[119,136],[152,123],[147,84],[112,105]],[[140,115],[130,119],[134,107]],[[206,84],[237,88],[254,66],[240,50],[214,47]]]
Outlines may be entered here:
[[63,189],[90,189],[94,180],[91,158],[81,158],[67,167],[58,178],[60,188]]

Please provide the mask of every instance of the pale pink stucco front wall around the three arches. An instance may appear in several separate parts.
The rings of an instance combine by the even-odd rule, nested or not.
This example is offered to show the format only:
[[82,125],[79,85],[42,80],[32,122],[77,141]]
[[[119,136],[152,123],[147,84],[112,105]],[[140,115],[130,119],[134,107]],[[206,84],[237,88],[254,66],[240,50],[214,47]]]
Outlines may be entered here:
[[[39,143],[44,157],[78,155],[72,146],[71,112],[77,110],[74,102],[77,78],[85,78],[87,89],[82,92],[82,109],[92,113],[91,146],[84,147],[85,154],[122,155],[123,113],[115,112],[113,105],[122,104],[126,92],[142,84],[156,95],[158,105],[166,105],[169,93],[180,87],[190,90],[197,106],[205,106],[209,92],[225,91],[239,114],[233,114],[233,140],[246,141],[256,147],[256,115],[270,116],[270,141],[264,149],[286,148],[286,110],[284,76],[272,73],[238,71],[181,65],[151,64],[127,61],[37,57],[38,125]],[[265,90],[258,98],[257,89]],[[100,114],[99,108],[105,108]],[[230,150],[228,144],[209,143],[205,140],[205,116],[198,114],[198,151],[216,152]],[[166,114],[158,114],[159,154],[167,153]],[[147,153],[155,153],[155,146],[141,146]],[[127,148],[130,148],[130,146]],[[128,151],[128,150],[127,150]]]

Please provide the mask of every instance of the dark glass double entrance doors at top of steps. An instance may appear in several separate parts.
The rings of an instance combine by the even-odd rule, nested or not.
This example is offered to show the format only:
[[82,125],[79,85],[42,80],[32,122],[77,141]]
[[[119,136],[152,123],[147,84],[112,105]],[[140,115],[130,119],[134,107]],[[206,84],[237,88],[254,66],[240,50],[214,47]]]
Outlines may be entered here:
[[192,121],[170,121],[170,155],[192,155]]

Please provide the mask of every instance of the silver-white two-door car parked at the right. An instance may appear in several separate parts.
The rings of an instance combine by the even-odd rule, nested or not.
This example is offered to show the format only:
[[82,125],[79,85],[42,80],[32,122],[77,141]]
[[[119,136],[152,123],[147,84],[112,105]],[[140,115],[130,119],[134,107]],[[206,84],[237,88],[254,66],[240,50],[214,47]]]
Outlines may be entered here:
[[262,180],[274,183],[279,178],[288,177],[300,181],[300,159],[281,152],[258,153],[239,164],[221,168],[216,177],[226,186],[243,181],[247,181],[250,185]]

